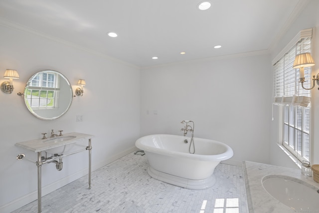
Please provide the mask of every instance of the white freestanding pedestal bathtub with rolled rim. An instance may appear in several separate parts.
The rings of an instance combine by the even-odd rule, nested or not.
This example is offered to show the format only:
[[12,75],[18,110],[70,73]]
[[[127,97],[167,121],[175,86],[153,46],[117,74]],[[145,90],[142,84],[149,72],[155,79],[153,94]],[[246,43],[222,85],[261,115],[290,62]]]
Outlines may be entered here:
[[139,138],[135,146],[145,151],[152,178],[186,189],[208,189],[215,184],[215,167],[231,158],[233,150],[218,141],[194,138],[195,153],[189,154],[190,140],[178,135],[149,135]]

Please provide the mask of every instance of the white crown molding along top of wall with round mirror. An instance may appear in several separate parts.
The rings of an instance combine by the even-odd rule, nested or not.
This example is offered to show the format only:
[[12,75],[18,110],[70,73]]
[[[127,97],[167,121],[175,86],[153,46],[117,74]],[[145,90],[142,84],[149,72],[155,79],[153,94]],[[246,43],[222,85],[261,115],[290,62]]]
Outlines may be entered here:
[[31,33],[31,34],[34,34],[34,35],[37,35],[37,36],[40,36],[40,37],[44,37],[46,39],[49,39],[49,40],[52,40],[52,41],[55,41],[55,42],[58,42],[58,43],[73,47],[73,48],[76,48],[78,50],[88,52],[90,54],[94,54],[94,55],[97,55],[97,56],[100,56],[100,57],[103,57],[103,58],[106,58],[106,59],[109,59],[109,60],[124,64],[124,65],[130,66],[130,67],[133,67],[133,68],[140,69],[139,66],[136,66],[134,64],[128,63],[126,61],[123,61],[123,60],[120,60],[120,59],[117,59],[117,58],[114,58],[114,57],[111,57],[109,55],[106,55],[104,53],[101,53],[101,52],[98,52],[98,51],[95,51],[95,50],[92,50],[92,49],[89,49],[89,48],[86,48],[86,47],[83,47],[81,45],[78,45],[78,44],[63,40],[61,38],[42,33],[40,31],[37,31],[37,30],[33,29],[33,28],[30,28],[30,27],[27,27],[27,26],[24,26],[24,25],[21,25],[21,24],[18,24],[18,23],[14,23],[14,22],[9,21],[9,20],[7,20],[5,18],[2,18],[2,17],[0,17],[0,26],[6,27],[6,28],[10,28],[10,29],[14,29],[14,30],[20,30],[20,31],[23,31],[23,32],[28,32],[28,33]]

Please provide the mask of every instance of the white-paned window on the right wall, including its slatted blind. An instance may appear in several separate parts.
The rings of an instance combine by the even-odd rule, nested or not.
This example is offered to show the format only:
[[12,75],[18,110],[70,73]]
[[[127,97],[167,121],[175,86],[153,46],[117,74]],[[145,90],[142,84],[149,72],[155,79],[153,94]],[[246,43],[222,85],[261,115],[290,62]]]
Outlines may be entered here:
[[[293,64],[297,54],[311,52],[312,29],[301,31],[297,37],[273,63],[274,104],[279,105],[281,112],[280,143],[302,162],[310,161],[311,91],[301,87],[299,69],[293,69]],[[312,79],[310,67],[305,68],[305,77]],[[310,88],[311,83],[308,80],[304,86]]]

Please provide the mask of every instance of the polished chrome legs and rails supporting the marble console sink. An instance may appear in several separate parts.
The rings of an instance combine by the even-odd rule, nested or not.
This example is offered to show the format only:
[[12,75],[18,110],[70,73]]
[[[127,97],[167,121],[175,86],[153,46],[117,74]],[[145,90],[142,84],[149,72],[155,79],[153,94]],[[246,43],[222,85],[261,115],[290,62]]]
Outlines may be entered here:
[[[91,138],[89,139],[89,146],[87,146],[85,148],[85,150],[88,150],[89,151],[89,189],[91,189],[91,155],[92,155],[92,146],[91,146]],[[76,152],[73,152],[73,153],[70,153],[70,154],[67,154],[67,155],[63,155],[63,156],[59,156],[58,158],[63,158],[63,157],[66,157],[66,156],[69,156],[69,155],[73,155],[73,154],[76,154],[76,153],[79,153],[79,152],[83,152],[83,150],[79,150],[79,151],[76,151]],[[21,156],[20,156],[21,155]],[[18,160],[22,160],[22,158],[25,156],[24,154],[20,154],[18,155],[17,159]],[[50,160],[50,161],[46,161],[46,160],[41,160],[41,151],[38,152],[38,157],[37,157],[37,162],[36,162],[36,166],[38,168],[38,213],[41,213],[42,212],[42,208],[41,208],[41,202],[42,202],[42,186],[41,186],[41,167],[43,164],[45,163],[50,163],[51,161],[53,161],[54,159]]]

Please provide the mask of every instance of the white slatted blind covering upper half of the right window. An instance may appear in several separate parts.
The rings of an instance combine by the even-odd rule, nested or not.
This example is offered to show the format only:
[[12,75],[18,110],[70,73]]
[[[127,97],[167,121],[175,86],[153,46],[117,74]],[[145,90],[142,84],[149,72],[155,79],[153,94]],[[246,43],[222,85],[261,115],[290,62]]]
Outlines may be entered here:
[[[312,35],[312,33],[311,33]],[[301,87],[299,69],[293,69],[297,54],[311,52],[311,35],[301,38],[274,64],[274,104],[292,104],[308,107],[311,92]],[[312,82],[311,67],[305,68],[306,88]]]

